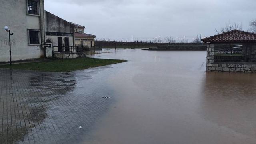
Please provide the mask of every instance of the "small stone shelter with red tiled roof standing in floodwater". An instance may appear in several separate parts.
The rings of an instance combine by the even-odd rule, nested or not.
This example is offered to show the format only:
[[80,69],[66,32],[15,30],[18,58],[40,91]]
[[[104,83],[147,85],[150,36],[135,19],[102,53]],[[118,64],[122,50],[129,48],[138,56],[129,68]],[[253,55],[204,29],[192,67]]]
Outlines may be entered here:
[[256,34],[232,30],[202,41],[208,44],[207,71],[256,73]]

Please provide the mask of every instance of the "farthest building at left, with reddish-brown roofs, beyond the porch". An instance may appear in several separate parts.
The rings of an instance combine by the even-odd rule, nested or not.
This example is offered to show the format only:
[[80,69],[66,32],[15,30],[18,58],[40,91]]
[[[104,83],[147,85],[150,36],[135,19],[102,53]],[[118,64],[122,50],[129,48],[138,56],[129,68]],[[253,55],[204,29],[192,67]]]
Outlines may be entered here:
[[95,35],[84,33],[84,26],[79,24],[72,23],[75,30],[75,45],[76,46],[88,46],[89,48],[94,47],[95,44]]

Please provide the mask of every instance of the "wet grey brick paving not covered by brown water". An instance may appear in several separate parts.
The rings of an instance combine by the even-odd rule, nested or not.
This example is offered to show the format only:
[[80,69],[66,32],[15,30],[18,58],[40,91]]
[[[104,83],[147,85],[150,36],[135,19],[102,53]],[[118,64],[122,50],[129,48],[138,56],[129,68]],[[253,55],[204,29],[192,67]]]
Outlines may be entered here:
[[[0,144],[73,144],[113,99],[103,68],[49,73],[0,69]],[[80,129],[79,126],[82,126]]]

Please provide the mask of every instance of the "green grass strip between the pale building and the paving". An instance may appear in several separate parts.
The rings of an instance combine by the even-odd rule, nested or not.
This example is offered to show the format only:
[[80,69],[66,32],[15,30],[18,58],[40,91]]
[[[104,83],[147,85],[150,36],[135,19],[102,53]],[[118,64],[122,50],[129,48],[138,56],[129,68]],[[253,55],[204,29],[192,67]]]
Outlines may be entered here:
[[94,58],[75,58],[50,60],[47,62],[35,62],[25,64],[3,65],[0,68],[13,68],[19,70],[35,70],[44,72],[70,72],[74,70],[84,70],[98,66],[106,66],[126,62],[127,60],[112,60],[112,59],[94,59]]

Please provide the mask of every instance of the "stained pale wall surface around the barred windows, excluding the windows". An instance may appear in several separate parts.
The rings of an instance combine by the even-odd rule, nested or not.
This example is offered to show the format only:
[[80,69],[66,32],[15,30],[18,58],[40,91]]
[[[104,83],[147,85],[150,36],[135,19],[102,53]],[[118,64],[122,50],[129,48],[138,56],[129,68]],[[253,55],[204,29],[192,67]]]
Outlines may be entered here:
[[40,44],[28,44],[28,29],[40,30],[40,16],[27,14],[26,0],[0,0],[0,62],[9,61],[9,36],[4,26],[14,32],[11,36],[12,60],[44,56]]

